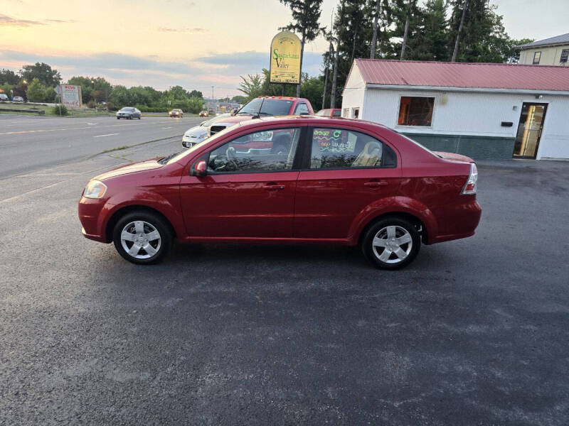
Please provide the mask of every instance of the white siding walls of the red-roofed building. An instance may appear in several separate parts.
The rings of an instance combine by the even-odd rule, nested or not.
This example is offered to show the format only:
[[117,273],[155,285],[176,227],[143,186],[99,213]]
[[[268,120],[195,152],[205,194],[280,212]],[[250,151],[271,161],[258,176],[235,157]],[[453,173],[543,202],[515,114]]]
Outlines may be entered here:
[[[356,83],[361,86],[359,80],[361,75],[358,73]],[[402,96],[434,97],[432,126],[398,126]],[[354,86],[350,78],[344,92],[342,111],[360,107],[362,102],[361,119],[375,121],[403,133],[494,138],[516,138],[523,102],[548,104],[536,158],[569,158],[568,96],[543,95],[542,99],[536,99],[534,94],[365,88]],[[513,125],[501,126],[502,121]]]

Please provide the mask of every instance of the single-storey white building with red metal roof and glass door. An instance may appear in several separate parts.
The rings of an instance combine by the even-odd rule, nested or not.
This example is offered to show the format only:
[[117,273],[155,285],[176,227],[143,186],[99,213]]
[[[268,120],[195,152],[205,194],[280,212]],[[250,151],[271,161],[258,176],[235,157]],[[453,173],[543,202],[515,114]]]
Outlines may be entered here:
[[342,116],[472,158],[569,158],[569,67],[356,59]]

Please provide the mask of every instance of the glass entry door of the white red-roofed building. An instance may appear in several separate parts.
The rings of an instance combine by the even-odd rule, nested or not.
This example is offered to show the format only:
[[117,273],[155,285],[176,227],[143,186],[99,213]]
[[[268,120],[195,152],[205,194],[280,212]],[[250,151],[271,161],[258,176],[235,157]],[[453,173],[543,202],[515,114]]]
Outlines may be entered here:
[[546,111],[547,104],[523,103],[514,145],[514,158],[536,158]]

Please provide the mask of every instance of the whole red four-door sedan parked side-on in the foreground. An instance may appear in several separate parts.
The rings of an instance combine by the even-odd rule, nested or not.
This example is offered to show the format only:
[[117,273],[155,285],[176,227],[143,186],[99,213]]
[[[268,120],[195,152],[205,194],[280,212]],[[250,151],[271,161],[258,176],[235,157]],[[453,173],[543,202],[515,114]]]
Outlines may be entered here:
[[373,265],[395,269],[421,243],[472,236],[476,190],[473,160],[433,153],[379,124],[253,119],[97,176],[79,218],[88,239],[112,241],[133,263],[159,261],[177,239],[359,244]]

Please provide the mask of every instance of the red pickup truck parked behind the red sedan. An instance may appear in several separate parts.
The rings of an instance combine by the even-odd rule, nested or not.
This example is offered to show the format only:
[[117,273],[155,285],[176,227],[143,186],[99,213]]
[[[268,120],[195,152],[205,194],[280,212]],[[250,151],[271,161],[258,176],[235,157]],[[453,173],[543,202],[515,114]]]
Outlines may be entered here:
[[281,96],[258,97],[245,104],[234,116],[210,126],[208,135],[211,136],[233,124],[256,117],[312,114],[314,111],[308,99]]

